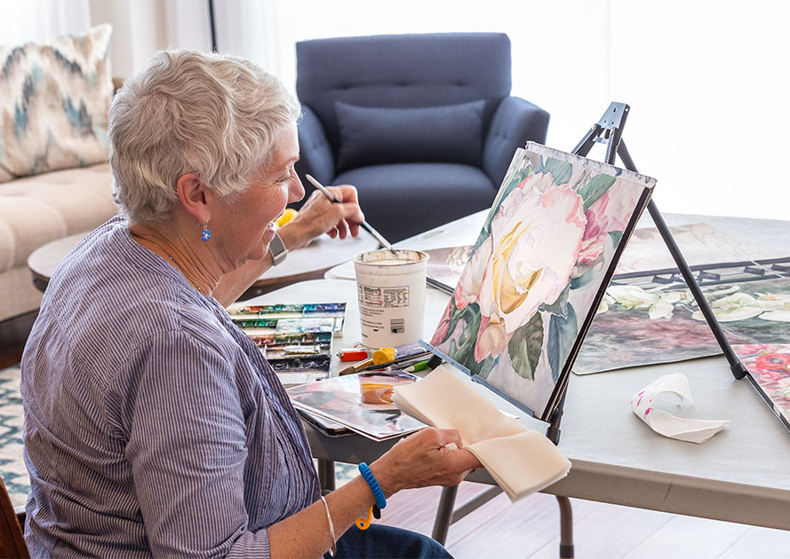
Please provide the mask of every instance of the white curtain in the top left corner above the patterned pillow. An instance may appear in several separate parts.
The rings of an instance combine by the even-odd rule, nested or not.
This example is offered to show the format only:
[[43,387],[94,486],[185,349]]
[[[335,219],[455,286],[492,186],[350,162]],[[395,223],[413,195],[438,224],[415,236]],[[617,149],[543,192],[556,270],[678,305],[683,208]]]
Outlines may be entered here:
[[49,41],[91,27],[88,0],[0,0],[0,44]]

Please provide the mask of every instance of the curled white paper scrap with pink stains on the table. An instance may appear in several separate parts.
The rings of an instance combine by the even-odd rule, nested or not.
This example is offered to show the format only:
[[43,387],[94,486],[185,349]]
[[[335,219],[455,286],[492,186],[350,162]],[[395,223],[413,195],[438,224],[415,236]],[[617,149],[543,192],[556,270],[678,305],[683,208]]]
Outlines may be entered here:
[[730,422],[684,419],[653,408],[653,400],[664,392],[671,392],[691,405],[694,403],[691,400],[689,379],[682,373],[665,374],[631,397],[631,409],[659,435],[699,444],[713,437]]

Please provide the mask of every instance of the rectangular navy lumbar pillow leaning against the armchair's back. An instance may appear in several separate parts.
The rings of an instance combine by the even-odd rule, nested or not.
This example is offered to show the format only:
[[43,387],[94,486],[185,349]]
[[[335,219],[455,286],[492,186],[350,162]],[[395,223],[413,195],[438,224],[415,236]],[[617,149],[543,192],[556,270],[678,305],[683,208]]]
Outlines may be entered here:
[[483,159],[485,101],[391,108],[336,102],[338,169],[409,161],[464,163]]

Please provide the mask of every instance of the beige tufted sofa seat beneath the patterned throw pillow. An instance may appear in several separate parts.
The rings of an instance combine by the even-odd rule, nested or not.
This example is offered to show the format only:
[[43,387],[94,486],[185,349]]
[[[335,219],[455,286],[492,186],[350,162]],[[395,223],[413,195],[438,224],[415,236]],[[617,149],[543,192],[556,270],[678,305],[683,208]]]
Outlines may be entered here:
[[41,303],[28,269],[36,248],[115,215],[110,185],[107,163],[0,183],[0,322]]

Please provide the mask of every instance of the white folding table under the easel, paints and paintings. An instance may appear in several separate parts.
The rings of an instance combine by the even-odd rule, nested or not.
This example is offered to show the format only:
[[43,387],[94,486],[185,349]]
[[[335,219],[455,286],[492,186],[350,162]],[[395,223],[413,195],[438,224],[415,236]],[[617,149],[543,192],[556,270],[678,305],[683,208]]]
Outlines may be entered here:
[[[474,242],[484,214],[399,245],[438,248]],[[790,247],[787,222],[699,216],[665,219],[668,224],[705,222],[778,251]],[[444,232],[437,234],[438,230]],[[304,282],[255,301],[291,303],[319,299],[348,303],[347,329],[336,347],[350,347],[358,341],[353,281]],[[448,295],[427,290],[424,337],[433,333],[447,301]],[[661,437],[631,412],[630,398],[635,392],[658,376],[677,372],[689,377],[694,405],[679,407],[675,413],[730,420],[727,428],[702,445]],[[507,408],[506,403],[500,402]],[[571,459],[573,468],[570,476],[546,492],[790,530],[790,476],[786,473],[790,433],[746,380],[733,379],[723,357],[571,375],[561,428],[559,447]],[[348,461],[371,460],[387,448],[363,437],[330,439],[312,429],[308,429],[308,437],[316,457],[332,460],[343,456]],[[470,479],[491,483],[491,477],[481,470]]]

